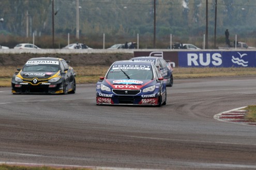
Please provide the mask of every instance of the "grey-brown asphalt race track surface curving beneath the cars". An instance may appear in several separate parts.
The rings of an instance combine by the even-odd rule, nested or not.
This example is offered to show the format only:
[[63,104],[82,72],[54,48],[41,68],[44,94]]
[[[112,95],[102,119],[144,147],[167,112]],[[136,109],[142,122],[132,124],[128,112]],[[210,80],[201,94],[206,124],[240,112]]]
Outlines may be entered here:
[[0,163],[109,169],[256,169],[256,126],[217,121],[255,105],[256,76],[174,80],[167,105],[96,106],[76,94],[0,88]]

